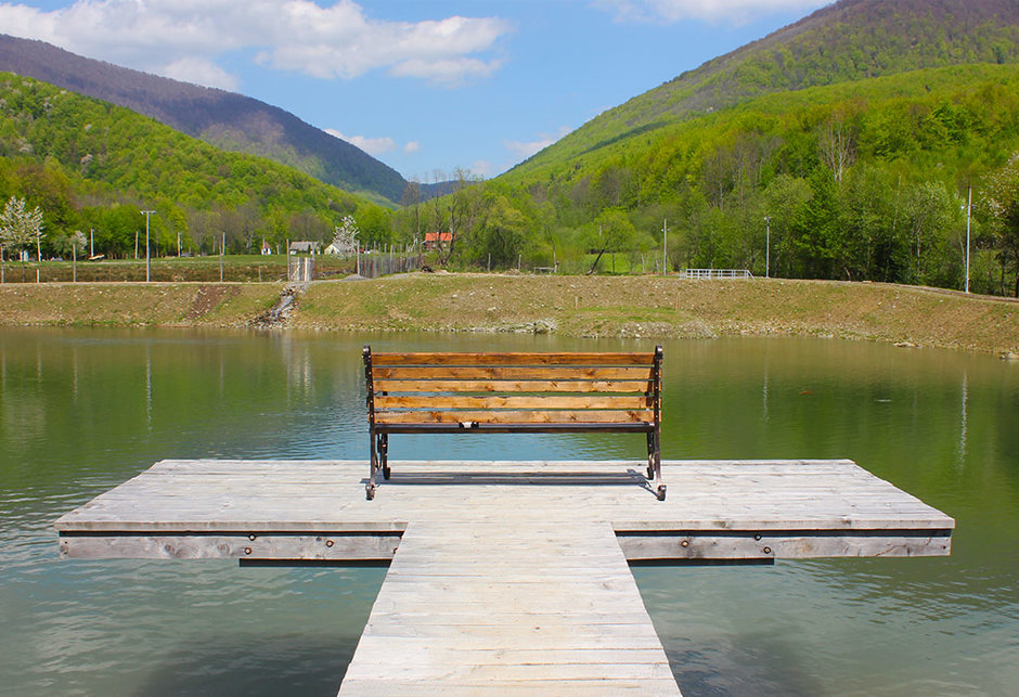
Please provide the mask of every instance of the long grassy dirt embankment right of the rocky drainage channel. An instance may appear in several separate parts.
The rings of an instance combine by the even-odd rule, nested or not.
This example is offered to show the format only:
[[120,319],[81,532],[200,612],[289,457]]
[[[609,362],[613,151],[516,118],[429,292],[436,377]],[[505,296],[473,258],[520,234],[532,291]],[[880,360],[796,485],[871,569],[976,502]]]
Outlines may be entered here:
[[317,283],[291,326],[569,336],[814,335],[1019,352],[1019,302],[869,283],[409,274]]

